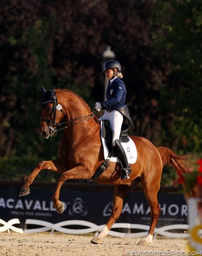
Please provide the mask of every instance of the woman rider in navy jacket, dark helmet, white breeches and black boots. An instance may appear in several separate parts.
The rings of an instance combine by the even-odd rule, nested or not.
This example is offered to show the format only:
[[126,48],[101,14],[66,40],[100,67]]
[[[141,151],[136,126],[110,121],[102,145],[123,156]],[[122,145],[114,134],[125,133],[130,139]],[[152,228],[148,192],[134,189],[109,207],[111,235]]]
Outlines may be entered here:
[[106,119],[110,122],[113,132],[112,146],[115,154],[119,157],[122,166],[121,179],[129,179],[132,170],[128,163],[125,151],[119,141],[123,116],[128,119],[133,128],[134,126],[128,112],[128,107],[125,104],[127,92],[123,81],[120,79],[123,77],[121,74],[121,65],[116,60],[108,60],[104,63],[102,73],[105,73],[105,76],[110,82],[106,90],[107,100],[96,102],[94,109],[96,111],[104,109],[102,119]]

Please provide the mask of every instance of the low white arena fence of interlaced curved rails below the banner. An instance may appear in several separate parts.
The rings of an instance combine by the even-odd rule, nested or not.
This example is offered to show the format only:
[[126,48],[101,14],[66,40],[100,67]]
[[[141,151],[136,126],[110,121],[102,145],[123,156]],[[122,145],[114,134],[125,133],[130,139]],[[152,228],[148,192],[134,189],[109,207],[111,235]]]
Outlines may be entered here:
[[[31,233],[40,233],[44,231],[51,231],[51,234],[54,233],[54,231],[58,231],[65,234],[72,234],[72,235],[81,235],[81,234],[88,234],[88,233],[98,233],[100,230],[103,229],[105,225],[96,225],[95,223],[89,222],[89,221],[83,221],[83,220],[67,220],[62,221],[58,223],[50,223],[43,220],[35,220],[35,219],[27,219],[25,224],[27,225],[35,225],[35,228],[31,229],[22,229],[15,227],[13,225],[20,224],[19,219],[11,219],[9,221],[4,221],[0,219],[0,232],[7,231],[10,233],[10,230],[15,231],[16,233],[21,234],[31,234]],[[36,228],[36,226],[41,226],[39,228]],[[80,229],[71,229],[68,227],[71,226],[80,226]],[[82,228],[83,227],[83,228]],[[109,231],[109,235],[115,236],[115,237],[141,237],[146,236],[148,234],[149,226],[147,225],[139,225],[139,224],[131,224],[131,223],[115,223],[112,227],[112,229],[122,229],[122,230],[128,230],[127,233],[124,231]],[[141,231],[139,233],[132,233],[132,230],[146,230]],[[171,231],[174,230],[174,231]],[[181,230],[181,231],[180,231]],[[176,225],[169,225],[164,226],[161,228],[155,228],[155,235],[156,238],[157,235],[171,237],[171,238],[185,238],[189,237],[188,234],[189,225],[184,224],[176,224]]]

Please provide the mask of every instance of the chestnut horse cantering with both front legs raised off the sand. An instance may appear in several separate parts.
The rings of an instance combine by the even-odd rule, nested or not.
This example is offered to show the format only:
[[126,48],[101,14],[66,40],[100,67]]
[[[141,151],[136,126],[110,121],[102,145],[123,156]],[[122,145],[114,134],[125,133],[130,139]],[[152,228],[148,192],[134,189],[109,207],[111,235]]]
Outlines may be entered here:
[[[40,162],[26,179],[21,188],[20,196],[30,193],[29,186],[41,170],[47,169],[60,173],[61,176],[57,181],[52,199],[56,211],[63,213],[64,205],[59,200],[63,183],[69,179],[90,180],[104,161],[104,153],[100,139],[100,124],[87,103],[79,95],[69,90],[56,89],[48,92],[52,93],[53,97],[52,100],[47,99],[44,102],[39,133],[44,139],[48,139],[63,126],[64,134],[58,147],[58,159]],[[45,89],[44,93],[47,94]],[[64,127],[65,125],[66,127]],[[125,196],[138,183],[141,183],[144,189],[152,219],[148,235],[140,241],[140,244],[151,243],[161,213],[157,193],[160,188],[163,166],[172,164],[176,171],[186,172],[188,164],[186,156],[178,156],[169,148],[156,148],[145,138],[131,137],[131,139],[136,144],[138,158],[136,163],[131,164],[130,179],[121,180],[121,165],[109,162],[107,170],[96,180],[114,185],[115,190],[111,217],[100,234],[90,241],[91,243],[101,243],[102,238],[107,236],[108,231],[122,212]]]

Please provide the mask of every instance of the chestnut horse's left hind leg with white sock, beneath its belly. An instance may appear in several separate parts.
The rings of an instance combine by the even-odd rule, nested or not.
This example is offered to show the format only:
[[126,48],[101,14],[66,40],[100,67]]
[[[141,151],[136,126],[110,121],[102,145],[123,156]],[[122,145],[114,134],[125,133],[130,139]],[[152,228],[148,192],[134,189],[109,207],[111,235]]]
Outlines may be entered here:
[[106,223],[102,231],[98,236],[94,237],[90,242],[92,244],[100,244],[102,243],[102,238],[107,236],[108,231],[112,228],[115,221],[119,218],[122,212],[123,200],[125,196],[128,194],[130,190],[130,186],[128,185],[117,185],[114,190],[114,205],[112,209],[112,214],[110,220]]

